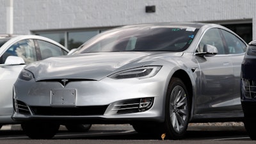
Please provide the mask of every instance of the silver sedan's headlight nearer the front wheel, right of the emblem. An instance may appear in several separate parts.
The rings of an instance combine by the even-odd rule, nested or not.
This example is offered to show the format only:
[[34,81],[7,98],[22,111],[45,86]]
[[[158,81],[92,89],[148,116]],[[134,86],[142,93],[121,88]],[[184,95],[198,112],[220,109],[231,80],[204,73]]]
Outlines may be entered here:
[[161,66],[147,66],[147,67],[139,67],[139,68],[132,68],[129,70],[124,70],[121,72],[116,72],[111,76],[108,76],[112,79],[129,79],[135,78],[138,79],[145,79],[148,77],[153,77],[159,72]]

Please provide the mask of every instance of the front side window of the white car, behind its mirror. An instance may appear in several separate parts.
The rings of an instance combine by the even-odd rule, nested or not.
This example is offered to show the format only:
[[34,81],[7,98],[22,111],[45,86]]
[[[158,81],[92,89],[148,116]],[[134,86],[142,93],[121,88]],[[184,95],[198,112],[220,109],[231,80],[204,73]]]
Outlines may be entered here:
[[26,64],[36,61],[35,43],[33,40],[20,40],[4,52],[0,63],[3,64],[8,56],[19,56]]

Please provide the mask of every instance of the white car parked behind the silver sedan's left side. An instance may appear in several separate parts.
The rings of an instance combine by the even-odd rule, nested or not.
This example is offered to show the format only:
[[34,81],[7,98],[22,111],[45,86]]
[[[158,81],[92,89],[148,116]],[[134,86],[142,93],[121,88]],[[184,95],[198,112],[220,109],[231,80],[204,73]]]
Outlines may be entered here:
[[22,68],[34,61],[68,54],[63,45],[36,35],[0,35],[0,128],[13,124],[13,84]]

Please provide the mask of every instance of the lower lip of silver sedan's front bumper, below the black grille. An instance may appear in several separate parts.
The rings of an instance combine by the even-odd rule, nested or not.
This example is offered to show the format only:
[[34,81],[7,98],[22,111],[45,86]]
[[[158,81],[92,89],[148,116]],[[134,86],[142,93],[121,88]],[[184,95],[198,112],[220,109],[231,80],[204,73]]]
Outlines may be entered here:
[[51,121],[60,124],[76,122],[77,124],[132,124],[138,122],[163,122],[163,117],[154,113],[140,113],[140,115],[118,115],[118,116],[40,116],[40,115],[22,115],[13,113],[15,122],[28,121]]

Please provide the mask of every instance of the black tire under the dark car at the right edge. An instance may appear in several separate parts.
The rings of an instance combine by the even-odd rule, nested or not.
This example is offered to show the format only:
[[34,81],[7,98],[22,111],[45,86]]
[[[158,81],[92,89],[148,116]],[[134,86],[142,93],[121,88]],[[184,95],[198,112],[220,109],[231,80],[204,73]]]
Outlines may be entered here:
[[248,118],[245,118],[244,120],[244,127],[246,129],[246,132],[250,136],[252,140],[256,140],[256,124],[255,119],[250,120]]

